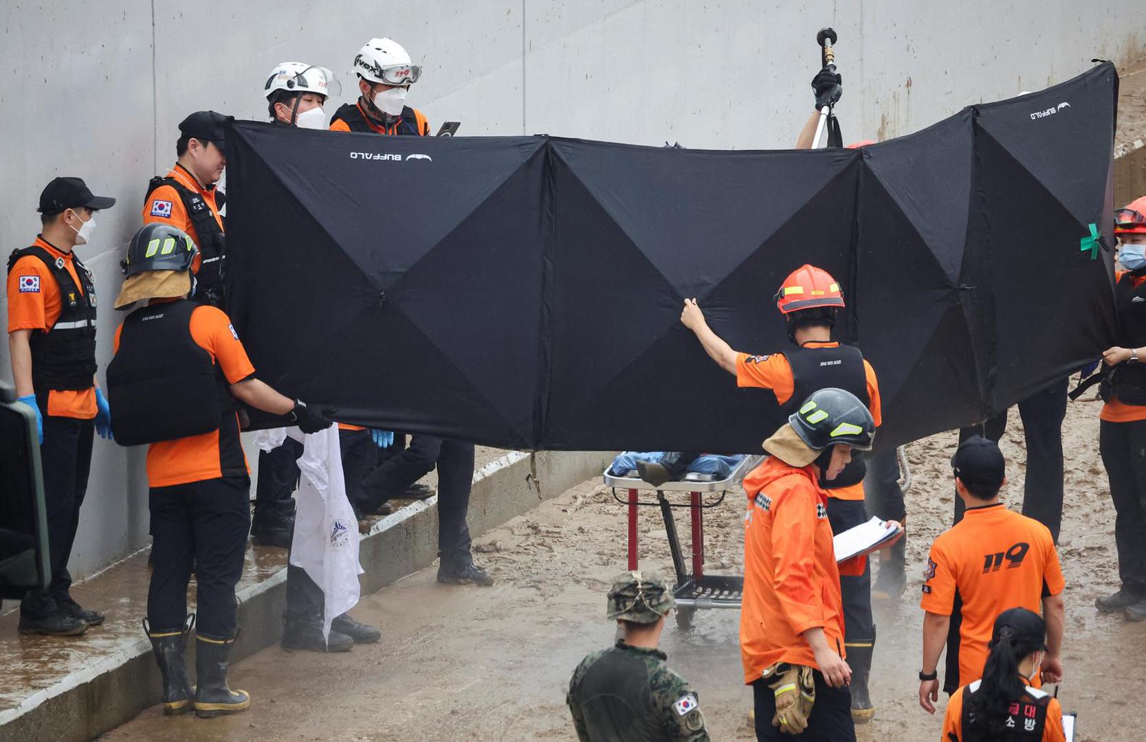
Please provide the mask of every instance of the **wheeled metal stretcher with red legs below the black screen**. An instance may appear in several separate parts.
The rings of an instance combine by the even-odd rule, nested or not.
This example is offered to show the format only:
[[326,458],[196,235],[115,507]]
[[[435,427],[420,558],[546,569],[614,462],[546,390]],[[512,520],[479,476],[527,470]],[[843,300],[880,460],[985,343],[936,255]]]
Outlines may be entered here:
[[[728,490],[740,486],[744,476],[756,467],[763,456],[746,456],[732,473],[723,479],[712,474],[688,473],[683,479],[665,482],[659,488],[642,480],[635,471],[626,472],[623,476],[614,476],[605,469],[605,486],[613,488],[613,499],[628,506],[629,535],[628,558],[629,569],[638,568],[637,559],[637,508],[660,507],[665,520],[665,532],[668,536],[668,548],[673,554],[673,568],[676,571],[676,585],[673,595],[676,598],[676,624],[681,629],[692,625],[693,614],[698,608],[739,608],[740,593],[744,590],[744,578],[725,575],[705,575],[705,511],[724,502]],[[628,490],[628,499],[617,495],[618,489]],[[642,500],[641,490],[654,490],[656,500]],[[719,496],[706,502],[705,495]],[[673,503],[669,496],[688,494],[688,503]],[[676,534],[676,519],[673,508],[688,507],[692,532],[692,573],[688,570],[684,554],[681,551],[681,539]]]

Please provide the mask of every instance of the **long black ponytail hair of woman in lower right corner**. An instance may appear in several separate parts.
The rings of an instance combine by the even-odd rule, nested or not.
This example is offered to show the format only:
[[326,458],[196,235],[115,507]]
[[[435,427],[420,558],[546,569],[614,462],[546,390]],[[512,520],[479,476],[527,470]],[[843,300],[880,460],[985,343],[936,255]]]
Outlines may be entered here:
[[[1030,613],[1038,618],[1039,624],[1043,623],[1037,614],[1025,613]],[[1027,689],[1019,677],[1019,663],[1027,655],[1045,649],[1045,629],[1041,636],[1033,637],[1020,633],[1014,626],[996,623],[979,690],[970,696],[964,690],[964,703],[970,711],[968,724],[976,739],[988,742],[1007,739],[1008,708]]]

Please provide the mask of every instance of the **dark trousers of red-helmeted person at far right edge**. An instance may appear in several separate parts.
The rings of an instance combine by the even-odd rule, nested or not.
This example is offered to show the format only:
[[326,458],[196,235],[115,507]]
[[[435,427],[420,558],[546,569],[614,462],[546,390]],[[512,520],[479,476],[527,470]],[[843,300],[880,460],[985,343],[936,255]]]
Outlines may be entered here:
[[1118,577],[1146,593],[1146,420],[1099,423],[1099,450],[1114,500]]

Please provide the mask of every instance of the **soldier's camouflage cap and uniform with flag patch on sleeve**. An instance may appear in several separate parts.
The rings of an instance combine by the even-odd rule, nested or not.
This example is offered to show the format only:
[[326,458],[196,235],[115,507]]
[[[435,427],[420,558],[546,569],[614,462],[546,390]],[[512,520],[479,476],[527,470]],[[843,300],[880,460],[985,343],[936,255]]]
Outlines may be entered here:
[[[656,573],[626,573],[609,591],[607,617],[660,621],[676,606],[668,582]],[[565,701],[582,742],[682,740],[705,742],[708,731],[697,693],[665,664],[659,649],[623,639],[581,661]]]

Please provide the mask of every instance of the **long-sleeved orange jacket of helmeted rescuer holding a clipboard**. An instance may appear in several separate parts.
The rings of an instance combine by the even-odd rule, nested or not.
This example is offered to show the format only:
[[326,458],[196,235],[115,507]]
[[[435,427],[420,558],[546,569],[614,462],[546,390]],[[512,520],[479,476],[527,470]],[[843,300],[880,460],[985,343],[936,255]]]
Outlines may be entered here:
[[813,467],[775,456],[744,477],[744,597],[740,658],[746,684],[776,662],[817,668],[800,634],[819,626],[843,655],[840,574],[826,498]]

